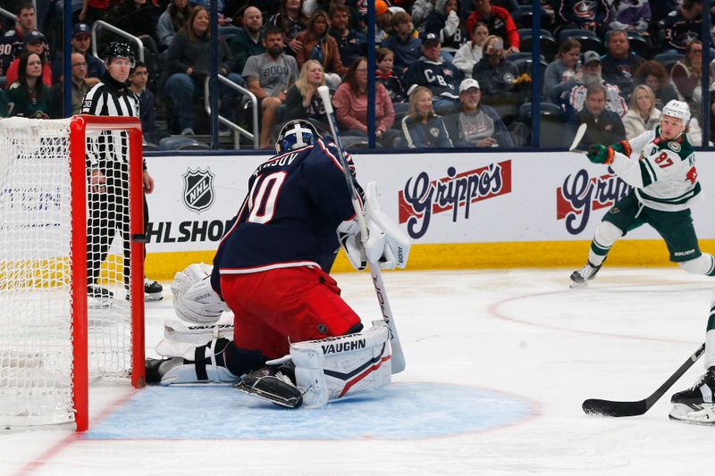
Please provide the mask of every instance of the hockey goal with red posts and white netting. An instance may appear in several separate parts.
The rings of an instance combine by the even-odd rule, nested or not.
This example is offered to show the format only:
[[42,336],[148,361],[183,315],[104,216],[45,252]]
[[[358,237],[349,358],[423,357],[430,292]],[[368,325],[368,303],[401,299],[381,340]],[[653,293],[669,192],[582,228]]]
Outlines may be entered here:
[[138,120],[0,120],[4,427],[86,430],[88,381],[143,386],[142,221]]

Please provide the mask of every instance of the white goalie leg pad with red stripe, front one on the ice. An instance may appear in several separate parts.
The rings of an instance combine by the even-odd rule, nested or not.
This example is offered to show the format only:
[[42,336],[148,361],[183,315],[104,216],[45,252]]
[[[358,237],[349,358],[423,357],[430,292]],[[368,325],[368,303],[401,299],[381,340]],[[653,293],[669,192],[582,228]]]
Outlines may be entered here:
[[384,321],[359,334],[290,346],[303,405],[322,406],[386,387],[391,380],[390,332]]

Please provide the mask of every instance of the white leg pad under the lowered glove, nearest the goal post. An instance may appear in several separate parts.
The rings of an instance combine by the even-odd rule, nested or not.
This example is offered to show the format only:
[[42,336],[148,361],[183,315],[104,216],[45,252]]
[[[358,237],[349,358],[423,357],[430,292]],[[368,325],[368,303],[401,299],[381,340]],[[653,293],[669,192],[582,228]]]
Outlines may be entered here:
[[[214,325],[187,326],[180,321],[166,320],[164,338],[156,345],[156,353],[164,357],[183,357],[187,352],[193,352],[195,347],[203,346],[215,338],[232,340],[233,322],[222,322]],[[193,359],[193,356],[186,358]]]

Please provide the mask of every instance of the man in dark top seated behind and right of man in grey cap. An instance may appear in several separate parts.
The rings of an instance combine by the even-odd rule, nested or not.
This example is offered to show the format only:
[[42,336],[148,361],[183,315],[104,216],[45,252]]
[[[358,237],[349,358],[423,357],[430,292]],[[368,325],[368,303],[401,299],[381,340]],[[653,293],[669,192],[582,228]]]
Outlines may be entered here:
[[633,92],[635,70],[644,59],[630,51],[630,42],[625,29],[612,29],[608,35],[608,52],[601,58],[601,76],[620,88],[624,97]]

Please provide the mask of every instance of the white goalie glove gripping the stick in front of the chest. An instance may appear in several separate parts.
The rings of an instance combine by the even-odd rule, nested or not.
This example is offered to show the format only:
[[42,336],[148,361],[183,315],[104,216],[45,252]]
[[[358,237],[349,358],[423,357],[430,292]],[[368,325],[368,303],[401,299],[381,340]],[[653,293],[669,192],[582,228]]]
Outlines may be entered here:
[[410,241],[387,213],[383,212],[377,201],[377,188],[374,182],[367,184],[365,190],[365,221],[368,233],[366,246],[363,246],[362,233],[357,220],[343,221],[338,227],[338,239],[348,255],[350,264],[357,270],[365,269],[366,264],[377,263],[383,270],[404,268],[408,263]]

